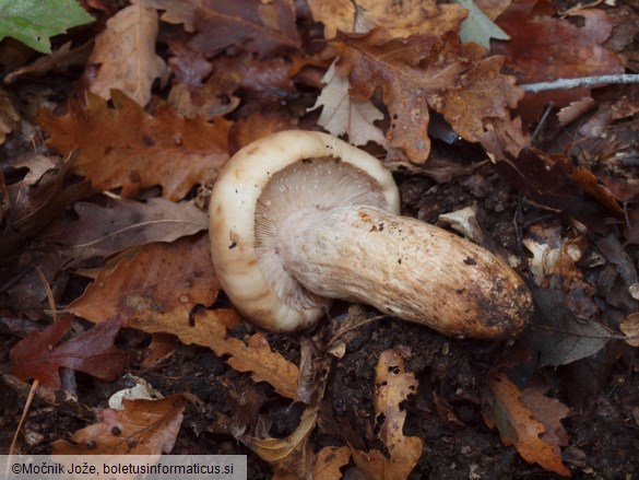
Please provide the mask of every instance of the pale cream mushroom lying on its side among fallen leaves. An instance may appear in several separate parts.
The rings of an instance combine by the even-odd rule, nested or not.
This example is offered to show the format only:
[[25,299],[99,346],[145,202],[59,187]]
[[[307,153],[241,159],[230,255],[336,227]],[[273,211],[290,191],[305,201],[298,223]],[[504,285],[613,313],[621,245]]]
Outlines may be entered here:
[[524,327],[531,295],[506,262],[399,212],[374,156],[327,133],[277,132],[238,151],[213,187],[215,271],[235,307],[272,331],[312,326],[334,298],[454,337]]

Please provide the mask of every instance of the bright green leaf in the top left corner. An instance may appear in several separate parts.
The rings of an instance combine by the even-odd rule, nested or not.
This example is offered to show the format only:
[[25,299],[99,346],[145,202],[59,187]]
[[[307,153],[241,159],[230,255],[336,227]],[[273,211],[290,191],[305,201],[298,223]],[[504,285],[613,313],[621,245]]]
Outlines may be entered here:
[[49,38],[94,19],[75,0],[0,0],[0,40],[13,37],[51,52]]

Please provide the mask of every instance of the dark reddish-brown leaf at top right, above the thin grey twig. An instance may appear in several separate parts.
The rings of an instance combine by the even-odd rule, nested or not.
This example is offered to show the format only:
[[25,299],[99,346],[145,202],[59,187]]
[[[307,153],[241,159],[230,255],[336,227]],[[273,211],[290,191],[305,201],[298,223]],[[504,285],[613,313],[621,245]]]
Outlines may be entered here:
[[519,83],[624,72],[619,58],[602,46],[613,28],[603,11],[555,14],[548,0],[517,0],[497,19],[510,40],[494,42],[493,52],[506,56]]

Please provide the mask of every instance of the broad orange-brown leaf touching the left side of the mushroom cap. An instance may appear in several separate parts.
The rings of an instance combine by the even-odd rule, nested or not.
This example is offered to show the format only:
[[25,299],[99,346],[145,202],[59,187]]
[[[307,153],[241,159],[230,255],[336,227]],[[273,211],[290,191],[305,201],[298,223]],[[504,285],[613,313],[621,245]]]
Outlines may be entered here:
[[218,289],[209,238],[201,235],[142,247],[98,273],[69,309],[92,321],[119,315],[127,326],[145,317],[184,325],[196,305],[213,304]]

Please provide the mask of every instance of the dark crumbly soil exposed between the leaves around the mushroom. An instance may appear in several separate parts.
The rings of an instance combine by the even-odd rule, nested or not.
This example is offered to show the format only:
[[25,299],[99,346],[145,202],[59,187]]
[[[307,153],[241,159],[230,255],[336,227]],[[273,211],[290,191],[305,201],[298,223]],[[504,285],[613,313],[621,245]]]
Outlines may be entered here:
[[[459,163],[471,165],[473,155]],[[519,198],[489,165],[447,184],[410,173],[400,173],[398,178],[406,212],[433,222],[439,213],[476,204],[483,212],[483,227],[495,246],[514,255],[521,253],[518,229],[533,219],[554,221],[547,212]],[[335,315],[339,317],[345,307],[338,305]],[[318,330],[326,328],[328,324]],[[0,364],[4,372],[8,352],[16,340],[0,337],[3,347]],[[275,350],[299,361],[299,337],[271,335],[269,340]],[[345,340],[346,353],[332,363],[328,378],[319,428],[312,435],[315,448],[345,443],[362,449],[379,447],[374,435],[374,370],[380,352],[392,348],[402,352],[406,371],[414,373],[419,385],[417,394],[403,405],[407,411],[404,434],[424,442],[411,478],[554,478],[541,467],[525,463],[514,447],[505,446],[498,432],[488,429],[482,417],[486,378],[499,365],[509,364],[509,355],[516,354],[511,353],[516,351],[511,341],[457,340],[392,319],[365,325],[350,332]],[[119,341],[125,348],[140,348],[146,336],[123,330]],[[519,365],[512,376],[525,382],[534,374],[552,387],[549,396],[570,407],[569,417],[563,421],[569,434],[563,457],[575,478],[639,478],[639,363],[631,348],[616,342],[593,358],[569,365],[543,368],[529,365],[528,370]],[[229,385],[259,399],[242,413],[259,413],[268,419],[273,436],[289,434],[303,410],[299,405],[282,400],[269,385],[253,384],[229,368],[224,359],[202,348],[179,346],[157,370],[137,372],[133,364],[131,373],[140,373],[166,395],[190,393],[201,400],[188,406],[173,453],[245,454],[251,479],[270,478],[271,470],[229,434],[229,419],[239,408]],[[2,377],[0,388],[1,453],[8,450],[27,393],[26,386],[19,388],[8,378]],[[76,383],[79,402],[36,398],[20,436],[20,452],[50,452],[52,441],[69,438],[72,432],[92,423],[92,409],[106,407],[108,397],[122,388],[82,374],[76,375]],[[347,470],[348,476],[356,475],[353,465]]]

